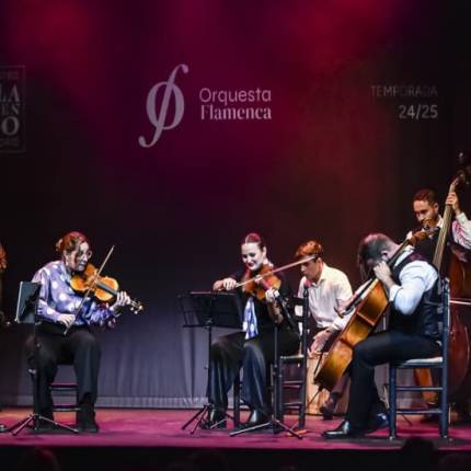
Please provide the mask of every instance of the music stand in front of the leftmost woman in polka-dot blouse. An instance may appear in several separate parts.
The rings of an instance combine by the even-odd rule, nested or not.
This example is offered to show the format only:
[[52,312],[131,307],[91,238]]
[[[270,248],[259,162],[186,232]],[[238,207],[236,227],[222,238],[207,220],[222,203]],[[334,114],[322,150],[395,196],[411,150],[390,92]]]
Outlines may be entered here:
[[18,294],[18,303],[16,303],[16,314],[15,322],[19,324],[32,324],[33,325],[33,361],[34,369],[30,369],[33,377],[33,414],[30,414],[27,417],[22,418],[16,424],[12,425],[9,430],[12,432],[13,435],[18,435],[24,427],[33,423],[33,429],[37,433],[41,430],[41,423],[45,422],[54,425],[58,428],[64,428],[68,432],[72,432],[78,434],[79,430],[77,428],[69,427],[68,425],[61,424],[60,422],[56,422],[51,418],[45,417],[39,414],[38,411],[38,383],[37,383],[37,352],[41,348],[41,344],[36,336],[36,326],[38,324],[37,321],[37,306],[39,303],[39,291],[41,284],[32,283],[32,282],[21,282],[20,290]]

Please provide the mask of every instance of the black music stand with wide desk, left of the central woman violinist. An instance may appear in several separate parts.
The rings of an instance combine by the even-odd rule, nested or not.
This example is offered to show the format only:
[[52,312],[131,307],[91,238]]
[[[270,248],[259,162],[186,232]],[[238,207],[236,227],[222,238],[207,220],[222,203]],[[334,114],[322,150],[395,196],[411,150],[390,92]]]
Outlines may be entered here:
[[[233,292],[216,292],[216,291],[191,291],[186,296],[180,296],[180,307],[184,318],[184,328],[204,328],[208,332],[208,397],[210,397],[210,377],[211,377],[211,344],[212,344],[212,328],[226,329],[242,329],[243,310],[240,297]],[[196,428],[209,418],[209,413],[214,404],[207,402],[193,415],[183,426],[184,430],[192,422],[196,421],[191,434],[194,434]],[[226,413],[226,417],[214,424],[211,428],[216,428],[219,424],[232,418]]]

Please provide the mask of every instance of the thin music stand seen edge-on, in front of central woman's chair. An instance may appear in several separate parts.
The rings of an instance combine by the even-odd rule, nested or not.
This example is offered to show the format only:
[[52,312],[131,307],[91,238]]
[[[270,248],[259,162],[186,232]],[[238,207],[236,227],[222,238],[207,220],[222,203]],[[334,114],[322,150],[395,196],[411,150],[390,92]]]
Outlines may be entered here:
[[[306,291],[305,291],[306,292]],[[285,320],[291,325],[291,329],[295,329],[298,331],[299,334],[299,330],[297,326],[294,325],[294,319],[291,317],[291,313],[289,312],[289,307],[287,306],[286,301],[279,296],[277,298],[282,312],[283,312],[283,317],[285,318]],[[306,303],[305,303],[305,309],[303,309],[303,318],[307,318],[306,314]],[[305,315],[306,314],[306,315]],[[303,328],[306,328],[305,323],[303,323]],[[306,335],[306,330],[303,330],[303,335]],[[294,427],[289,427],[288,425],[286,425],[282,420],[282,407],[283,404],[280,403],[280,398],[282,398],[282,371],[280,371],[280,360],[279,360],[279,324],[275,324],[275,329],[274,329],[274,356],[275,356],[275,360],[273,363],[273,370],[272,370],[272,377],[273,377],[273,413],[272,413],[272,417],[263,423],[263,424],[259,424],[259,425],[253,425],[252,427],[246,427],[246,428],[241,428],[240,430],[234,430],[231,432],[229,434],[229,436],[234,437],[237,435],[242,435],[245,434],[248,432],[255,432],[255,430],[263,430],[265,428],[271,428],[272,432],[274,434],[278,434],[279,432],[287,432],[289,435],[298,438],[298,439],[302,439],[302,435],[300,435],[299,433],[297,433],[296,430],[294,430]],[[306,361],[306,358],[305,358]],[[306,375],[305,375],[306,376]],[[306,386],[305,386],[306,388]],[[306,402],[306,401],[305,401]]]

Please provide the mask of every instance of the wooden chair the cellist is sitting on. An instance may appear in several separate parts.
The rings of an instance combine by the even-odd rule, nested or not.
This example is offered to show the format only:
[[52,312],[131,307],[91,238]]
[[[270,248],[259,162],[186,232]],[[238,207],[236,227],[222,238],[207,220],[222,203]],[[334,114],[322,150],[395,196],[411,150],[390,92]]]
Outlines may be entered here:
[[[449,403],[448,403],[448,335],[450,324],[450,286],[449,279],[443,280],[443,329],[441,329],[441,356],[432,358],[414,358],[400,364],[389,366],[389,438],[397,438],[397,415],[439,415],[439,434],[441,438],[448,438]],[[399,369],[440,369],[440,386],[398,386],[397,371]],[[403,391],[435,391],[440,393],[439,406],[435,409],[398,409],[397,393]]]

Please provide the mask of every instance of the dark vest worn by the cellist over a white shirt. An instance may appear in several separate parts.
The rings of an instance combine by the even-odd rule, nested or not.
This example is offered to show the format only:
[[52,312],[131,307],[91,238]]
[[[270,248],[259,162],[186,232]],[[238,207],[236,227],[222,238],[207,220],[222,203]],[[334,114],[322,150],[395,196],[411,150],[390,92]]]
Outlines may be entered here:
[[[414,261],[426,260],[418,253],[413,252],[406,256],[400,264],[392,269],[392,279],[400,285],[399,275],[405,265]],[[432,265],[433,266],[433,265]],[[441,294],[440,294],[440,278],[438,277],[434,286],[425,291],[418,302],[417,308],[412,314],[403,314],[394,309],[391,305],[389,328],[391,330],[405,332],[409,334],[423,335],[432,338],[439,338],[441,335]]]

